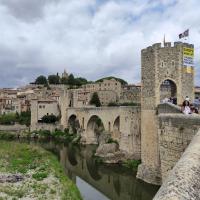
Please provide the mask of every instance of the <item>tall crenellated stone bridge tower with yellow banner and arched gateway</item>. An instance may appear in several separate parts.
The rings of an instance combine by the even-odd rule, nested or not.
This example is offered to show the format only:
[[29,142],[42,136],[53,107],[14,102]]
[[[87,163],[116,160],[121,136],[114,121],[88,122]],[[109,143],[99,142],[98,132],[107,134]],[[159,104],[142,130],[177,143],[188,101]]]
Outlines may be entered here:
[[166,97],[181,104],[186,96],[194,98],[194,46],[175,42],[153,44],[141,51],[141,159],[137,177],[160,184],[157,105]]

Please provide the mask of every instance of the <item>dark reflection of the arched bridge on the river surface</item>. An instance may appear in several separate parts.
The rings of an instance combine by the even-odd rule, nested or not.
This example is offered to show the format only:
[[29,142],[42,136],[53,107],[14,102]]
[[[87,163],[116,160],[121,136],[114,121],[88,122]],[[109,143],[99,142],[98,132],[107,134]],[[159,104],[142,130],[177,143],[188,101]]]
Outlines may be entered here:
[[76,180],[76,176],[89,183],[98,191],[114,200],[150,200],[157,188],[134,178],[130,173],[119,171],[119,167],[106,167],[95,163],[92,149],[63,147],[60,160],[67,175]]

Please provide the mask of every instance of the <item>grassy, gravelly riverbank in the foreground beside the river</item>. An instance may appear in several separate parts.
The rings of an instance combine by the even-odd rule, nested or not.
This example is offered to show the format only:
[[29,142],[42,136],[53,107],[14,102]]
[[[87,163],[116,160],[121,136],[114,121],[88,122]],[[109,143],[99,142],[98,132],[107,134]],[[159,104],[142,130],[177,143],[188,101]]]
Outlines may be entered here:
[[57,158],[24,143],[0,141],[0,199],[81,200]]

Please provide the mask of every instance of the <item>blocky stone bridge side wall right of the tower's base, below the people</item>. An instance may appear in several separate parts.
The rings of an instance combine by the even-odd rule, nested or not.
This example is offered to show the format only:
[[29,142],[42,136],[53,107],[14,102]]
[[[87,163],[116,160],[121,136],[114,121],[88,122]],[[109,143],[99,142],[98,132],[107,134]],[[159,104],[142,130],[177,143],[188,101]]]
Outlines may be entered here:
[[200,116],[196,114],[160,114],[158,120],[163,182],[200,128]]

